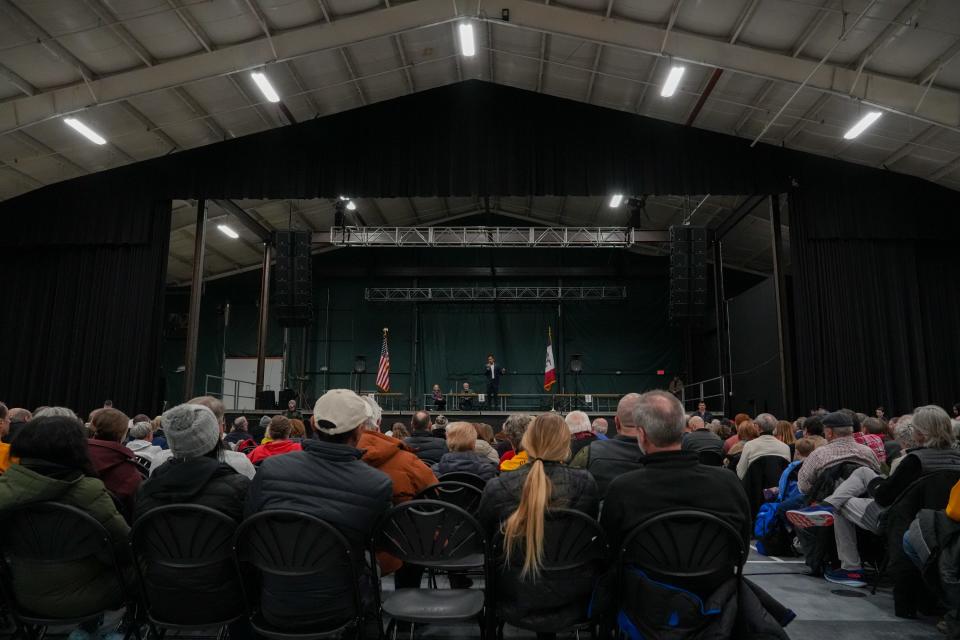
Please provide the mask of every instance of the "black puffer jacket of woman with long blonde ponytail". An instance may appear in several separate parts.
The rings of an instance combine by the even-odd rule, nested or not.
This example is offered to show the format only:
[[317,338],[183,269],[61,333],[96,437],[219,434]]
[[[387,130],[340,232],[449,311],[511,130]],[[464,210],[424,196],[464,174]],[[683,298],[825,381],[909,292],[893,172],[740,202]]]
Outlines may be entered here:
[[[544,466],[552,484],[551,508],[574,509],[591,518],[597,517],[600,496],[589,472],[557,462],[547,462]],[[525,464],[487,483],[478,517],[491,539],[500,523],[519,506],[524,482],[532,468],[533,464]],[[533,582],[520,578],[518,564],[506,567],[500,562],[498,566],[497,611],[503,619],[522,621],[524,628],[542,631],[559,631],[585,619],[602,566],[554,573],[549,579]]]

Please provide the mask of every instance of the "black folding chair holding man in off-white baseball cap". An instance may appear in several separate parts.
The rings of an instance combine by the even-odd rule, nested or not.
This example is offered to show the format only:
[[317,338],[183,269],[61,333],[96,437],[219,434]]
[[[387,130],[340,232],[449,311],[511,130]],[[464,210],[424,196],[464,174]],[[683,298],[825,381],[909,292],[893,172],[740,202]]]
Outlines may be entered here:
[[[365,615],[357,570],[363,559],[328,522],[299,511],[263,511],[237,528],[234,549],[250,625],[257,634],[270,640],[363,636]],[[298,589],[308,579],[324,581],[325,601],[311,604],[318,620],[291,628],[268,621],[261,587],[286,582]],[[321,612],[328,615],[321,619]]]

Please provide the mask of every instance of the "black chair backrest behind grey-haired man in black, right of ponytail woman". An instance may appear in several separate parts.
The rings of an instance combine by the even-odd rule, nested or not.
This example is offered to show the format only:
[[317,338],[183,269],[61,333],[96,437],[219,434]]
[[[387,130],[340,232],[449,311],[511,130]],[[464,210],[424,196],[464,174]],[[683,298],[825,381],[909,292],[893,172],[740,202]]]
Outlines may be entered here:
[[737,529],[712,513],[668,511],[637,525],[623,542],[620,564],[666,579],[739,574],[746,549]]

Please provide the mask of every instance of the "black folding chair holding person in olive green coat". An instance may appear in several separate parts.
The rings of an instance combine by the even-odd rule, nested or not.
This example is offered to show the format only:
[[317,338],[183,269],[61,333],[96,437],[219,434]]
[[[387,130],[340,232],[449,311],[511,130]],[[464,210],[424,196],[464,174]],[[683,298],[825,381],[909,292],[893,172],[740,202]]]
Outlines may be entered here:
[[[49,626],[78,625],[98,620],[105,611],[127,607],[129,613],[135,609],[132,588],[124,578],[110,533],[90,514],[57,502],[35,502],[3,511],[0,523],[0,589],[16,626],[15,636],[41,640]],[[50,616],[31,610],[31,603],[21,599],[18,573],[22,575],[31,566],[89,560],[100,562],[107,570],[106,579],[115,583],[109,585],[116,589],[112,601],[76,615]],[[17,565],[19,569],[15,569]],[[69,605],[62,602],[61,608]],[[124,637],[131,634],[141,637],[136,624],[128,625]]]

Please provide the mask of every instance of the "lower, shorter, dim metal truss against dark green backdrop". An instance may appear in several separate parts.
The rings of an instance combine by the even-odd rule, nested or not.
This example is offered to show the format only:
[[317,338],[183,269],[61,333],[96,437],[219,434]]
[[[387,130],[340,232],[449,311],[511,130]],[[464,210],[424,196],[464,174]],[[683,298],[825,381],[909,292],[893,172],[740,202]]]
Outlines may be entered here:
[[526,302],[543,300],[624,300],[626,287],[424,287],[365,289],[371,302]]

